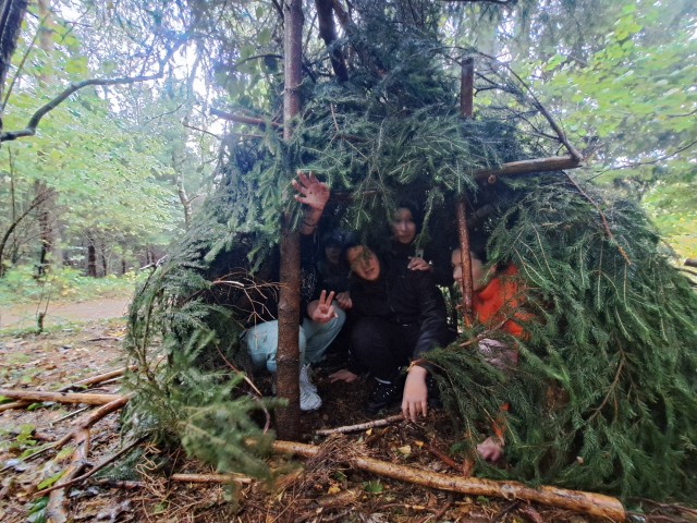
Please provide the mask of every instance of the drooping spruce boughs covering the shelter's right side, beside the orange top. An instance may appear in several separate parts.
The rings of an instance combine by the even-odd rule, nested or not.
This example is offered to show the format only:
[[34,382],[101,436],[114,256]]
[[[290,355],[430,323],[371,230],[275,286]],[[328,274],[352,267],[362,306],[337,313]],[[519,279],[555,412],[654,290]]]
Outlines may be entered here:
[[487,372],[457,345],[429,360],[453,369],[441,390],[457,391],[448,401],[470,448],[501,416],[498,405],[511,405],[509,467],[488,475],[689,499],[697,295],[634,205],[584,190],[612,241],[586,196],[558,175],[529,180],[488,223],[492,263],[513,262],[528,289],[530,337],[505,340],[518,345],[518,367]]

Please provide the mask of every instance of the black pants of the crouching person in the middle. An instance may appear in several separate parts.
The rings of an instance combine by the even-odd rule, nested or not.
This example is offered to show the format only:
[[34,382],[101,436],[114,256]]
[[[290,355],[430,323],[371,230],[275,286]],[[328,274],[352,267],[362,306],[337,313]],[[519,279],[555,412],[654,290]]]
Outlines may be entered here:
[[355,323],[351,332],[352,352],[372,376],[394,381],[400,368],[408,364],[419,335],[417,324],[400,325],[364,317]]

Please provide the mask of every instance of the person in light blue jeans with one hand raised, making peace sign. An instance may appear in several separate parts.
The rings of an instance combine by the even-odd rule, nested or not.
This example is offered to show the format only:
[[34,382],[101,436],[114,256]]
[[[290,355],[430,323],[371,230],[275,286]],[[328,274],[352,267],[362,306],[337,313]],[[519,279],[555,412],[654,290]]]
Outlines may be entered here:
[[[293,180],[295,199],[305,206],[301,224],[301,353],[299,396],[301,410],[314,411],[322,404],[317,387],[311,382],[309,365],[322,360],[327,348],[337,338],[346,319],[345,313],[334,306],[334,292],[327,292],[316,269],[318,242],[316,232],[327,202],[329,187],[310,172],[298,172]],[[252,326],[243,336],[243,343],[254,366],[276,374],[279,324],[277,319]]]

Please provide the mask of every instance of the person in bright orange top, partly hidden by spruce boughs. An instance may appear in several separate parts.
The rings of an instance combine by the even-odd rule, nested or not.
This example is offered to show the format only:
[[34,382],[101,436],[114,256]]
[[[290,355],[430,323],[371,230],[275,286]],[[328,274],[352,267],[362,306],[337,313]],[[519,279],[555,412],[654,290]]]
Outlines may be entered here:
[[[503,270],[499,270],[498,265],[488,265],[486,250],[476,244],[470,245],[469,258],[474,291],[473,311],[477,320],[488,331],[502,330],[518,339],[524,339],[527,335],[521,323],[529,318],[529,315],[521,309],[525,300],[525,291],[518,285],[517,268],[513,264],[509,264]],[[460,248],[452,252],[452,267],[453,279],[462,281],[463,260]],[[511,348],[493,338],[479,340],[479,351],[491,365],[501,370],[510,370],[518,362],[515,346]],[[508,405],[502,405],[501,410],[506,411]],[[484,460],[497,462],[503,457],[505,441],[502,424],[494,422],[492,428],[496,436],[488,437],[479,443],[477,452]]]

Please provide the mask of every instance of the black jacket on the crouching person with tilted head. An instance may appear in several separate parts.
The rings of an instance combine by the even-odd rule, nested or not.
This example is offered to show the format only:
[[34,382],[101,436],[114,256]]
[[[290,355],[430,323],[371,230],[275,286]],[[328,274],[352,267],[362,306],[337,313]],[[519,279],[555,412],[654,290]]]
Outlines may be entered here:
[[380,258],[380,277],[376,281],[352,277],[351,301],[358,316],[418,325],[415,360],[447,340],[445,304],[428,271],[401,271]]

